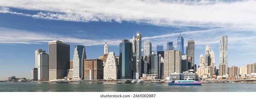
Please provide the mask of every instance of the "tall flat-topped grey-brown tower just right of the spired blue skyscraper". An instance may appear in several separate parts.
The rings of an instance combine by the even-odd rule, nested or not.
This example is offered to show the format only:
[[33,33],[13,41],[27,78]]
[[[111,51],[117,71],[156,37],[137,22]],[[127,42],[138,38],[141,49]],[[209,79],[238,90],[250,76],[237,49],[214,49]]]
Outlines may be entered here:
[[[191,64],[188,65],[188,69],[195,68],[194,67],[194,40],[188,40],[188,46],[187,46],[187,57],[190,57]],[[196,72],[196,70],[194,70]]]

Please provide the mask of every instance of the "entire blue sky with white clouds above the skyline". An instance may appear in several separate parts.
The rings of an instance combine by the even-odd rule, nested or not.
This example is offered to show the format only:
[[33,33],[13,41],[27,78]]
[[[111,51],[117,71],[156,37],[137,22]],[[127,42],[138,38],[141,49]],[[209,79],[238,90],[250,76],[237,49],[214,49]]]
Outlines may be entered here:
[[[102,56],[104,44],[119,54],[122,39],[137,31],[151,41],[152,51],[168,41],[177,45],[180,34],[186,48],[195,41],[195,64],[210,45],[219,65],[219,36],[228,35],[229,67],[256,62],[256,1],[119,1],[119,0],[1,0],[0,80],[9,76],[30,78],[34,51],[46,50],[48,42],[84,45],[87,58]],[[143,45],[142,45],[143,48]]]

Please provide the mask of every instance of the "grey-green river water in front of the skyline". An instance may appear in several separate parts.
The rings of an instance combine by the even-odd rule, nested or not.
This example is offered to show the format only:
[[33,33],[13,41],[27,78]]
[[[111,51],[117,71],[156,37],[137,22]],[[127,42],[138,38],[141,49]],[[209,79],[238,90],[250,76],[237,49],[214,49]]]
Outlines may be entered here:
[[0,92],[256,92],[256,83],[168,86],[167,83],[0,82]]

